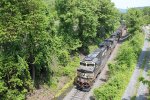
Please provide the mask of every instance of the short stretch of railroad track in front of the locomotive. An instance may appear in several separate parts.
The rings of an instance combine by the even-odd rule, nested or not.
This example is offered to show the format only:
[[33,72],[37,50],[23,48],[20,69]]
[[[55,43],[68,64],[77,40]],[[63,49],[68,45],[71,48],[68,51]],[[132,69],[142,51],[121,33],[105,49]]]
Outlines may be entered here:
[[83,92],[78,89],[75,89],[73,96],[70,100],[84,100],[88,92]]

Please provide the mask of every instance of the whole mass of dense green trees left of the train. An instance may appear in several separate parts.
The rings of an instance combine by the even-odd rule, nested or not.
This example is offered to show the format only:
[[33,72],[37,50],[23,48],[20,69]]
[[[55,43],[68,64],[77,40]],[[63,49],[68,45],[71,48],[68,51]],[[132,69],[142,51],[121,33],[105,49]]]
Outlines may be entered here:
[[87,54],[119,23],[110,0],[1,0],[0,13],[0,98],[11,100],[73,77],[77,52]]

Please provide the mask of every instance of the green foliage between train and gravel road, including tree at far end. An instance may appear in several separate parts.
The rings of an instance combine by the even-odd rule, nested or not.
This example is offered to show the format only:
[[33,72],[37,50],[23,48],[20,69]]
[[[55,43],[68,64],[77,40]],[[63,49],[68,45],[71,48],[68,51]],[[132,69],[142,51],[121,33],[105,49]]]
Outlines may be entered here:
[[[123,43],[119,53],[109,67],[109,80],[103,86],[95,89],[94,94],[99,100],[120,100],[130,80],[138,55],[143,45],[144,37],[140,31],[142,12],[130,9],[126,14],[128,32],[131,35],[128,41]],[[125,80],[125,81],[124,81]]]

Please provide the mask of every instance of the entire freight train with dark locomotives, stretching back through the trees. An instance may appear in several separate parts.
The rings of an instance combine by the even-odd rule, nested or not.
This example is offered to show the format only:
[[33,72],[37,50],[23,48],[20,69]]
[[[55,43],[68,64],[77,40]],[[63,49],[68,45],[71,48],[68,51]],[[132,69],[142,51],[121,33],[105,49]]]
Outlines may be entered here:
[[77,76],[74,79],[77,89],[90,91],[91,86],[101,73],[124,30],[126,30],[126,26],[122,24],[111,34],[110,38],[99,44],[99,48],[80,61],[80,67],[77,69]]

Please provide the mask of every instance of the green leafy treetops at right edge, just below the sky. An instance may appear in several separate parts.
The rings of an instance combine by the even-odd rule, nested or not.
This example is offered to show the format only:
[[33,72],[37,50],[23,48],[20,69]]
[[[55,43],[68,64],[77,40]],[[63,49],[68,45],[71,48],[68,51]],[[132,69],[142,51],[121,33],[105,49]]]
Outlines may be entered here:
[[128,30],[134,33],[134,31],[140,30],[141,25],[150,24],[150,7],[129,9],[123,17],[127,21]]

